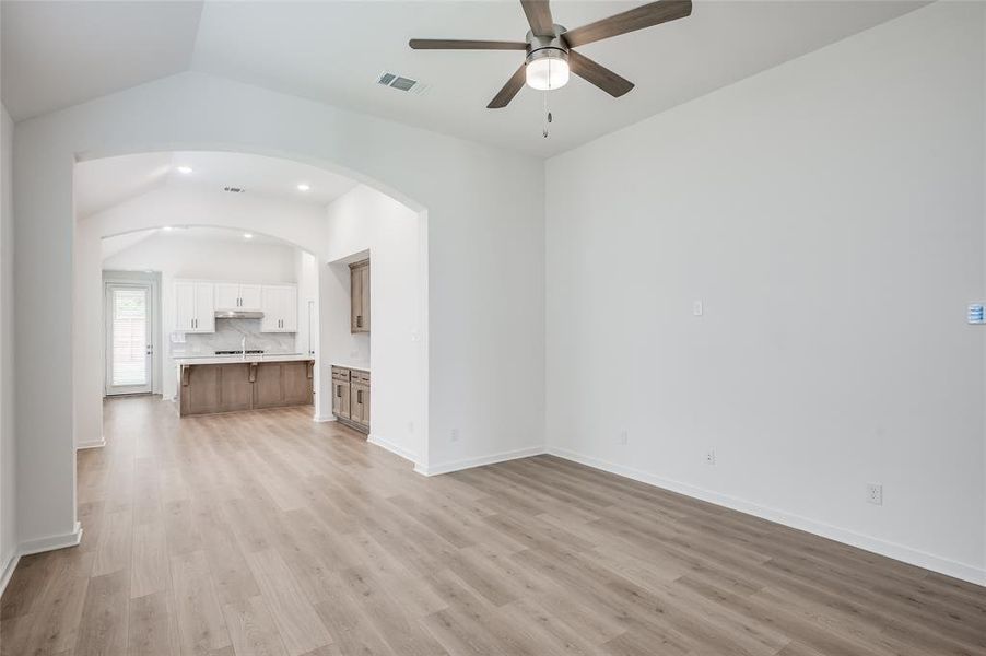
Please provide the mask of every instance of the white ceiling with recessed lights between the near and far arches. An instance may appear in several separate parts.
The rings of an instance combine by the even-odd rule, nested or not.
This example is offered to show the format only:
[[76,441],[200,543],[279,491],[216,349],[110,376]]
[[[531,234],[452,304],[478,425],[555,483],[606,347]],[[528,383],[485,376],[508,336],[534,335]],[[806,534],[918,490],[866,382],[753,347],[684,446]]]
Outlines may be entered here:
[[[191,168],[184,174],[179,166]],[[300,184],[310,187],[298,190]],[[240,187],[249,195],[327,206],[356,181],[322,168],[247,153],[162,152],[80,162],[75,166],[75,212],[89,216],[130,198],[168,185],[207,188]]]

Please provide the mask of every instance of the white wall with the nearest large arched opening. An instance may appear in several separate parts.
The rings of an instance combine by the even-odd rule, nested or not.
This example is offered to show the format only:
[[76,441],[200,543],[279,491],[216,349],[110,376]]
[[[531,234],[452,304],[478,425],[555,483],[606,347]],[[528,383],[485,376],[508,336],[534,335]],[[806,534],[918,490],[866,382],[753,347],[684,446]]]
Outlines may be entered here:
[[[30,363],[17,371],[23,539],[74,528],[73,379],[46,373],[73,362],[75,349],[64,312],[72,305],[64,281],[73,273],[74,157],[155,148],[289,156],[350,173],[426,210],[427,434],[439,443],[429,445],[427,457],[476,462],[542,445],[542,162],[183,73],[17,125],[16,348]],[[528,394],[505,413],[500,390],[518,371],[529,372]]]

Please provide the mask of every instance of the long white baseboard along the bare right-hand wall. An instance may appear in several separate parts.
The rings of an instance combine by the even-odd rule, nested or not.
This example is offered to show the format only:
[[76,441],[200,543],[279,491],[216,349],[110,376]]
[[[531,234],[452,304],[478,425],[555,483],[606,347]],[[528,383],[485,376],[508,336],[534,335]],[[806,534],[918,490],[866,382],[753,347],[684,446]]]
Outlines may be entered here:
[[704,488],[697,488],[695,485],[690,485],[680,481],[666,479],[653,473],[648,473],[646,471],[642,471],[639,469],[634,469],[633,467],[617,465],[614,462],[601,460],[592,456],[586,456],[566,448],[549,446],[547,453],[560,458],[564,458],[566,460],[579,462],[580,465],[587,465],[588,467],[594,467],[596,469],[609,471],[610,473],[623,476],[635,481],[641,481],[642,483],[647,483],[649,485],[655,485],[664,490],[670,490],[671,492],[678,492],[686,496],[707,501],[708,503],[714,503],[716,505],[731,508],[733,511],[739,511],[740,513],[753,515],[755,517],[767,519],[770,522],[776,522],[777,524],[783,524],[784,526],[789,526],[791,528],[797,528],[799,530],[821,536],[823,538],[829,538],[830,540],[835,540],[837,542],[843,542],[852,547],[857,547],[865,551],[885,555],[887,558],[892,558],[894,560],[916,565],[918,567],[931,570],[932,572],[938,572],[948,576],[954,576],[955,578],[961,578],[962,581],[967,581],[970,583],[975,583],[978,585],[986,585],[986,569],[970,565],[967,563],[960,563],[947,558],[935,555],[932,553],[912,549],[911,547],[905,547],[895,542],[888,542],[887,540],[881,540],[880,538],[875,538],[872,536],[867,536],[849,529],[832,526],[830,524],[824,524],[822,522],[817,522],[808,517],[794,515],[791,513],[786,513],[776,508],[762,506],[742,499],[737,499],[735,496],[705,490]]

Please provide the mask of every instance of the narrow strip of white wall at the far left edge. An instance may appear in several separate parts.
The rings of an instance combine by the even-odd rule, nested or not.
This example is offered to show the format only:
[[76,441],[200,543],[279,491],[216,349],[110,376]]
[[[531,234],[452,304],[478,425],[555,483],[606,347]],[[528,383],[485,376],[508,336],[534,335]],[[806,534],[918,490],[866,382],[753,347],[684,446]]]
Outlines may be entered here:
[[14,433],[13,202],[11,159],[14,126],[0,112],[0,593],[17,551],[16,438]]

